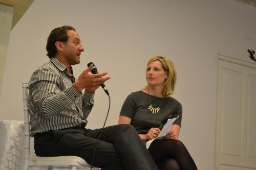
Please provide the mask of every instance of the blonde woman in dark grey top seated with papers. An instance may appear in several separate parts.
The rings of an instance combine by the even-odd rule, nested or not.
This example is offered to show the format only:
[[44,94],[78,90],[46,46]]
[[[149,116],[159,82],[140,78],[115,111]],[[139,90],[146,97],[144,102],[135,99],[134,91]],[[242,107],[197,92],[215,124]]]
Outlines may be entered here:
[[146,142],[158,136],[162,119],[179,116],[166,136],[154,140],[148,151],[159,169],[197,169],[184,144],[177,140],[182,106],[169,96],[173,94],[177,80],[174,64],[166,57],[153,57],[147,63],[146,80],[145,88],[127,96],[118,124],[133,125],[141,140]]

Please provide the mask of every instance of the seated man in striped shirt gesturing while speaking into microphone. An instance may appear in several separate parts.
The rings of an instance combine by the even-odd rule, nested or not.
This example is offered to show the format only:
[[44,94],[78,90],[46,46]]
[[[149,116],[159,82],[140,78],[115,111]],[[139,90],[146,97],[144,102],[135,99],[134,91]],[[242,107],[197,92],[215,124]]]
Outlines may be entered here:
[[[86,129],[94,105],[94,92],[110,77],[88,74],[76,80],[72,65],[80,63],[84,51],[80,37],[71,26],[52,30],[46,49],[50,62],[33,72],[29,81],[31,136],[37,156],[79,156],[92,163],[102,129]],[[84,93],[81,90],[84,89]],[[106,127],[94,157],[94,166],[104,169],[157,169],[131,125]]]

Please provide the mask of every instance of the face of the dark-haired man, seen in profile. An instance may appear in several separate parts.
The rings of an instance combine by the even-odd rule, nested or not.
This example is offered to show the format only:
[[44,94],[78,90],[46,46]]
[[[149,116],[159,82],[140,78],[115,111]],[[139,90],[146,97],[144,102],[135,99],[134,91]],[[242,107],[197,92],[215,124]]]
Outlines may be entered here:
[[74,30],[68,30],[67,33],[69,39],[64,43],[63,56],[67,64],[71,66],[80,63],[80,55],[84,48],[79,35]]

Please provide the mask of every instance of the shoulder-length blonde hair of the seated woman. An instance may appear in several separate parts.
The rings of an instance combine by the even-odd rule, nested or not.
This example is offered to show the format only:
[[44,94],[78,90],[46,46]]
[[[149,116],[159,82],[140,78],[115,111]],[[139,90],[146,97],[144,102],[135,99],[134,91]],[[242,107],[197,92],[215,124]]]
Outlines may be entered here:
[[[162,56],[153,57],[147,62],[146,73],[147,73],[148,65],[150,65],[153,61],[160,61],[162,63],[162,67],[164,71],[167,72],[168,74],[168,78],[164,82],[162,94],[167,96],[172,95],[174,93],[174,89],[177,81],[177,72],[176,72],[174,63],[166,57],[162,57]],[[147,85],[143,90],[146,90],[148,88],[149,86]]]

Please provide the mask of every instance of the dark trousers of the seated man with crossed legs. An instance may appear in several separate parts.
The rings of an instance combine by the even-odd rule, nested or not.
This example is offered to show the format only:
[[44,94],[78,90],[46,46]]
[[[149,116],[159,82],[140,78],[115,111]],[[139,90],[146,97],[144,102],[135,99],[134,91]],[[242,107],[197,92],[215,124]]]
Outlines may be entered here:
[[[38,133],[35,135],[35,153],[37,156],[79,156],[91,164],[101,130],[73,127]],[[132,125],[103,129],[93,166],[102,170],[158,169]]]

